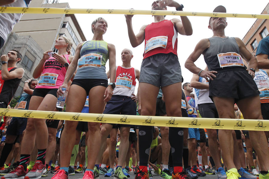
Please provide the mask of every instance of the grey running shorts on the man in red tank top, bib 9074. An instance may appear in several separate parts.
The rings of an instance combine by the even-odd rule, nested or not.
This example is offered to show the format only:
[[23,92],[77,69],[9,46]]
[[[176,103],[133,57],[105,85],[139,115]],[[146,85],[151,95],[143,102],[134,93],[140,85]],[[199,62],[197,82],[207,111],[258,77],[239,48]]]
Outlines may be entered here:
[[139,82],[157,87],[181,82],[178,56],[173,53],[158,53],[145,58],[141,64]]

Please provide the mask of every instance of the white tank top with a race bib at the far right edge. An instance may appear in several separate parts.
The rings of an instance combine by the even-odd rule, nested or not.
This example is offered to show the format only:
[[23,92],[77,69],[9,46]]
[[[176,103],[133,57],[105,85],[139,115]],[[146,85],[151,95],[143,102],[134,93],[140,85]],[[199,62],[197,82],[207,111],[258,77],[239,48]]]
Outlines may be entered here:
[[261,103],[269,103],[269,77],[264,70],[255,72],[254,81],[259,89]]

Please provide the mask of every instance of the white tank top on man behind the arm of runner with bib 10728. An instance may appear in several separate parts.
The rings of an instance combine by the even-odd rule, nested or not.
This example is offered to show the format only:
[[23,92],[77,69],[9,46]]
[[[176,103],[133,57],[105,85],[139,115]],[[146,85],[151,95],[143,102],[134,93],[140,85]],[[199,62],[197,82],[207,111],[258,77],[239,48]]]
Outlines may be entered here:
[[[199,82],[203,84],[208,84],[205,78],[199,77]],[[198,98],[198,104],[205,104],[205,103],[213,103],[213,101],[209,98],[209,90],[207,89],[196,89],[195,93]]]

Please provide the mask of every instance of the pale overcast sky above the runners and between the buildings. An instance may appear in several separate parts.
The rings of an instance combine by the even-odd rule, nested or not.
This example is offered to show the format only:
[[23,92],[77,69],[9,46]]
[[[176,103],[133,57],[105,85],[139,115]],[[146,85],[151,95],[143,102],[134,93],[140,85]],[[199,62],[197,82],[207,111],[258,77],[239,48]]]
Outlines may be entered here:
[[[151,4],[153,0],[60,0],[61,2],[68,2],[71,8],[91,8],[91,9],[130,9],[137,10],[151,10]],[[225,0],[225,1],[213,1],[213,0],[183,0],[177,1],[184,5],[184,11],[190,12],[213,12],[213,9],[218,5],[223,5],[227,9],[227,13],[238,14],[261,14],[265,6],[268,4],[267,0]],[[167,10],[175,10],[175,7],[168,7]],[[132,50],[134,58],[131,61],[131,65],[134,68],[140,70],[140,66],[143,59],[144,42],[138,47],[133,48],[130,44],[127,25],[124,15],[117,14],[76,14],[77,20],[82,28],[82,31],[87,40],[91,40],[93,33],[91,32],[91,23],[98,17],[103,17],[108,22],[108,29],[104,35],[104,40],[108,43],[112,43],[116,47],[116,65],[121,65],[121,51],[124,48]],[[166,19],[179,18],[180,16],[166,16]],[[192,36],[178,35],[178,59],[181,64],[182,76],[185,82],[190,82],[192,73],[185,69],[184,63],[190,53],[192,53],[195,45],[202,38],[209,38],[213,35],[212,31],[207,28],[209,17],[188,17],[193,29]],[[253,25],[256,19],[254,18],[227,18],[228,26],[225,29],[225,35],[229,37],[243,38]],[[150,24],[154,21],[151,15],[134,15],[132,19],[133,29],[135,34],[144,24]],[[106,65],[108,71],[109,63]],[[201,55],[195,64],[204,69],[205,62]],[[137,87],[136,87],[137,92]]]

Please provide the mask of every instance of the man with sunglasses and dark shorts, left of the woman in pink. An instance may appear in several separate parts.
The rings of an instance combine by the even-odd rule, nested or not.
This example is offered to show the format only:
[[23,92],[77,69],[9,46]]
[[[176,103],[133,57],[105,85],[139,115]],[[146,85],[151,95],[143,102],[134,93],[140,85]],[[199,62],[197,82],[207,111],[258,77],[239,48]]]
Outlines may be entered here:
[[[33,90],[37,84],[38,81],[36,79],[30,78],[25,81],[23,87],[25,93],[22,93],[14,109],[28,109]],[[27,115],[27,112],[25,115]],[[27,118],[13,117],[10,122],[7,121],[6,123],[9,123],[9,125],[7,126],[6,141],[0,157],[0,175],[6,175],[8,172],[15,169],[19,165],[19,161],[15,161],[8,168],[4,169],[4,163],[12,149],[14,141],[17,137],[19,137],[20,143],[22,141],[22,133],[26,128]]]

